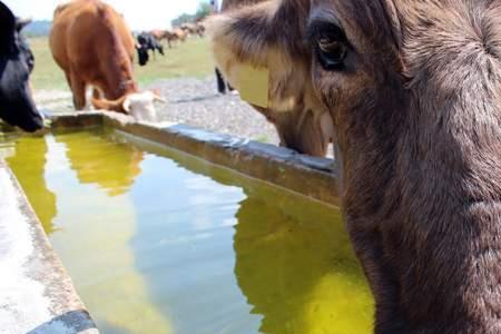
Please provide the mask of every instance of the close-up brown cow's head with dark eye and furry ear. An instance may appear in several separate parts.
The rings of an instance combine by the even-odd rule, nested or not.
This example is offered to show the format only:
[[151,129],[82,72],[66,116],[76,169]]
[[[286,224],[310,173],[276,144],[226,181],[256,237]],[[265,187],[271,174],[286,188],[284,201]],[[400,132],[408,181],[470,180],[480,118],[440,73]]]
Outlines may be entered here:
[[330,110],[376,333],[501,333],[501,1],[276,0],[212,30],[227,75]]

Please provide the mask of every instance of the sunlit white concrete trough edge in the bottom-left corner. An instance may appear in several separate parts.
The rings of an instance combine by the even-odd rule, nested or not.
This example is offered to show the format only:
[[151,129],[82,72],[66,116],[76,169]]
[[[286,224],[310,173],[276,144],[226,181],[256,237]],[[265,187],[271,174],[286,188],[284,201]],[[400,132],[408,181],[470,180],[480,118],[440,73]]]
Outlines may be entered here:
[[[2,333],[99,333],[21,186],[0,159]],[[7,274],[8,273],[8,274]]]

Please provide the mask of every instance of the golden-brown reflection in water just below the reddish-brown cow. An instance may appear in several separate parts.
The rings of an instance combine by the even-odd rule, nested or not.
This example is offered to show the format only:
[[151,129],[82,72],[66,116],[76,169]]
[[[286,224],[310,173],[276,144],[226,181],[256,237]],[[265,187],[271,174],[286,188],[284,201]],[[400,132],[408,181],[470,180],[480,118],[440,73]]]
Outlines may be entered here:
[[56,137],[65,144],[71,169],[82,184],[97,185],[108,196],[127,193],[141,173],[144,155],[131,145],[117,144],[82,134]]

